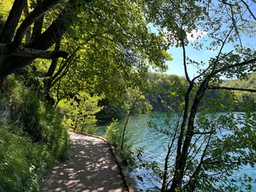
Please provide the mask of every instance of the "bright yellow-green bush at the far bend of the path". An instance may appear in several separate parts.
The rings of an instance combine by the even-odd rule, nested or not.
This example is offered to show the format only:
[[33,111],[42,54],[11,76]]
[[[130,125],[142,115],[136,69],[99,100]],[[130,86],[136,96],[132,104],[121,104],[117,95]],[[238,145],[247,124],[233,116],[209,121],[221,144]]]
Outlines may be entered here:
[[79,91],[74,98],[62,100],[58,106],[66,114],[64,124],[71,130],[95,134],[95,114],[102,110],[102,107],[98,106],[101,99],[102,97],[90,97],[89,94]]

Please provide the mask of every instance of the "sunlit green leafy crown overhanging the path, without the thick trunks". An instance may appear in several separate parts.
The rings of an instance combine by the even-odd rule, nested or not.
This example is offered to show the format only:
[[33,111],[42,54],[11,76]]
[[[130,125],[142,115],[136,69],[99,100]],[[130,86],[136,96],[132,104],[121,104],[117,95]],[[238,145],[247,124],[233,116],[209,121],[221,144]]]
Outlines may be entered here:
[[146,81],[149,66],[165,69],[164,62],[170,57],[164,39],[147,29],[142,8],[130,2],[112,2],[107,9],[102,4],[94,3],[91,9],[95,14],[79,14],[76,25],[62,40],[70,57],[58,62],[52,77],[47,77],[55,98],[69,97],[84,89],[105,94],[113,106],[120,102],[127,87]]

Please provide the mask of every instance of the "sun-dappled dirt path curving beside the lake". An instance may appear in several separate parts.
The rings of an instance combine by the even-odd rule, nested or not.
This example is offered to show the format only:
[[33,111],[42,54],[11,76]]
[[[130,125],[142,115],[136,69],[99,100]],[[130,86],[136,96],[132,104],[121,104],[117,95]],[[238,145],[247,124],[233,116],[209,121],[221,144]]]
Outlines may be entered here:
[[101,138],[70,132],[69,161],[54,167],[42,182],[43,192],[128,191],[110,147]]

